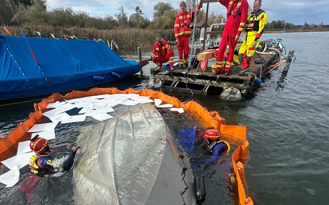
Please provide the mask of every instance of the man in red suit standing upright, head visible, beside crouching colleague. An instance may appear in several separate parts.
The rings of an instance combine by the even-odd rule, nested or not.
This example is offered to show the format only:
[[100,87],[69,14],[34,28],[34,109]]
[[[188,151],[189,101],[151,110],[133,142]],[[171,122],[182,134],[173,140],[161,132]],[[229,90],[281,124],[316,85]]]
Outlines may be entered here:
[[187,59],[189,58],[190,52],[189,37],[191,35],[191,13],[186,10],[186,3],[184,1],[179,4],[179,8],[181,11],[176,17],[174,31],[179,55],[179,64],[181,68],[184,68],[184,64],[188,67]]

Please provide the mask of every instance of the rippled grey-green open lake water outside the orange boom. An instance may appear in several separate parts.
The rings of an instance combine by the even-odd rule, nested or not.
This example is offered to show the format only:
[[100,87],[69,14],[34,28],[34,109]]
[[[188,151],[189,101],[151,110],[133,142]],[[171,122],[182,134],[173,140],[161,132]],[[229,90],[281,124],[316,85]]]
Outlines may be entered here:
[[[250,161],[245,167],[245,177],[249,194],[259,204],[327,204],[329,50],[324,46],[329,41],[329,32],[262,35],[262,39],[268,37],[283,39],[287,53],[295,50],[297,60],[291,63],[287,75],[282,75],[284,65],[267,74],[262,84],[255,86],[246,98],[223,101],[218,95],[164,92],[182,102],[194,100],[217,111],[229,125],[248,126]],[[143,51],[142,57],[148,57],[151,52],[151,49]],[[136,58],[136,52],[131,56]],[[174,60],[178,60],[176,52]],[[150,62],[143,68],[142,75],[97,87],[143,89],[150,80],[149,68],[152,67],[155,64]],[[7,135],[17,123],[27,119],[28,114],[34,112],[34,102],[39,100],[0,106],[0,136]],[[167,121],[170,124],[170,120]],[[207,188],[216,189],[219,176],[207,180]],[[0,190],[0,199],[6,194],[8,192]],[[207,190],[203,204],[218,204],[221,197],[229,201],[227,193],[223,196]]]

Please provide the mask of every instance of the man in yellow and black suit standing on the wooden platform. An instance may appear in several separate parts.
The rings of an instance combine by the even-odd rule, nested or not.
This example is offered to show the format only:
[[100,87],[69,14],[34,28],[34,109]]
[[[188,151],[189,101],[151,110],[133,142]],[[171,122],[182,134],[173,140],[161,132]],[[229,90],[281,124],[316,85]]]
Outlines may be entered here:
[[255,0],[253,12],[247,18],[246,37],[239,49],[239,61],[242,66],[242,71],[239,75],[244,75],[249,72],[251,58],[256,51],[256,44],[264,32],[267,15],[265,11],[261,10],[262,1]]

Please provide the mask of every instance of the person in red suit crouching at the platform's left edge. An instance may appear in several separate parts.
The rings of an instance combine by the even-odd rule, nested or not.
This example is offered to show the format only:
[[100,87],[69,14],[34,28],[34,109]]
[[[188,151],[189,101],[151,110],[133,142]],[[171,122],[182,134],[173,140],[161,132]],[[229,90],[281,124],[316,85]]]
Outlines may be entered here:
[[[158,57],[156,57],[157,55]],[[148,58],[157,64],[158,69],[162,68],[162,63],[169,61],[170,70],[174,70],[174,51],[171,50],[171,46],[161,37],[161,35],[157,35],[156,42],[153,45],[153,53]]]

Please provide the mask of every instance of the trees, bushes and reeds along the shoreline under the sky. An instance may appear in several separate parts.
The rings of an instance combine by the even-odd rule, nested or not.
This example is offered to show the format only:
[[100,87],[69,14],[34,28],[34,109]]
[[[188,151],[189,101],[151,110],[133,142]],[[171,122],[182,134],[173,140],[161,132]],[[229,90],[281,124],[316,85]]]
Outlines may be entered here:
[[[8,3],[10,2],[10,4]],[[136,7],[135,13],[130,16],[124,10],[123,6],[118,8],[114,15],[90,16],[88,13],[79,11],[74,12],[71,7],[58,7],[47,10],[46,0],[0,0],[0,15],[2,24],[12,29],[19,29],[19,25],[26,36],[37,36],[34,31],[45,32],[42,37],[51,37],[53,33],[56,37],[66,35],[75,35],[76,37],[94,37],[100,39],[115,40],[119,45],[125,45],[124,48],[136,48],[137,46],[151,47],[154,43],[155,36],[162,34],[168,41],[174,41],[173,26],[177,14],[170,3],[159,2],[154,6],[153,19],[149,20],[139,6]],[[187,0],[187,10],[191,11],[191,0]],[[15,16],[13,14],[13,11]],[[201,9],[195,22],[204,22],[206,12]],[[208,25],[221,23],[225,21],[223,15],[210,13],[208,15]],[[284,20],[272,21],[266,24],[266,31],[283,30],[286,22]],[[285,30],[328,30],[329,25],[307,24],[294,25],[286,24]],[[4,32],[3,29],[0,30]],[[114,33],[117,32],[118,34]],[[134,33],[129,35],[128,33]],[[13,33],[19,32],[13,31]],[[136,36],[135,36],[136,35]],[[199,31],[196,34],[198,37]],[[129,37],[128,37],[129,36]],[[120,44],[121,43],[121,44]],[[122,45],[121,45],[122,46]]]

